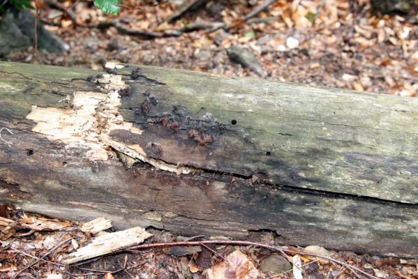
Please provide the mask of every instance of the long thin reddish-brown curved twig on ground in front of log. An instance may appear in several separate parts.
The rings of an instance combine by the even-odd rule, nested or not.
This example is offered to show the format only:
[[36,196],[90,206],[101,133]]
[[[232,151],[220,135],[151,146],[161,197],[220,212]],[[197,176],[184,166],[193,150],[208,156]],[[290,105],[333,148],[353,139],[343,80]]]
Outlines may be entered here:
[[378,277],[375,277],[369,273],[367,273],[366,271],[362,271],[361,269],[352,266],[350,264],[346,264],[345,262],[341,262],[338,259],[334,259],[331,257],[327,257],[327,256],[323,256],[323,255],[317,255],[317,254],[313,254],[313,253],[309,253],[309,252],[299,252],[299,251],[295,251],[295,250],[288,250],[288,249],[282,249],[282,248],[278,248],[275,246],[269,246],[267,244],[262,244],[262,243],[256,243],[256,242],[251,242],[251,241],[233,241],[233,240],[208,240],[208,241],[179,241],[179,242],[170,242],[170,243],[149,243],[149,244],[141,244],[138,246],[133,246],[130,248],[126,248],[126,251],[130,251],[130,250],[135,250],[135,249],[146,249],[146,248],[156,248],[156,247],[167,247],[167,246],[201,246],[202,243],[204,244],[223,244],[223,245],[241,245],[241,246],[259,246],[262,248],[266,248],[269,250],[273,250],[273,251],[277,251],[277,252],[288,252],[288,253],[292,253],[292,254],[297,254],[297,255],[304,255],[304,256],[311,256],[311,257],[320,257],[322,259],[328,259],[331,262],[335,262],[336,264],[340,264],[341,266],[344,266],[347,269],[350,269],[351,271],[354,271],[354,274],[358,276],[357,273],[355,273],[355,271],[363,274],[364,276],[367,276],[368,278],[373,278],[373,279],[379,279]]

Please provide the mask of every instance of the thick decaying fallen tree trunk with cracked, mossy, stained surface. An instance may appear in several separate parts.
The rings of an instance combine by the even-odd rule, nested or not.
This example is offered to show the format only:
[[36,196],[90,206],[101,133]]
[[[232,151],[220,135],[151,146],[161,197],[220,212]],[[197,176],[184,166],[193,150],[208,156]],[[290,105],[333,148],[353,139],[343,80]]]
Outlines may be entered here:
[[418,255],[418,99],[0,62],[0,193],[177,234]]

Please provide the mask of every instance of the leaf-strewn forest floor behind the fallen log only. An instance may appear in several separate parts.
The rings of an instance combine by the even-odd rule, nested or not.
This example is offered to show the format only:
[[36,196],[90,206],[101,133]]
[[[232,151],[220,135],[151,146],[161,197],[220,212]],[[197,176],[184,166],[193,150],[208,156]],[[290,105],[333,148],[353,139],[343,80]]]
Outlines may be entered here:
[[[270,80],[417,96],[417,17],[373,15],[367,1],[350,6],[350,1],[327,0],[322,8],[321,1],[276,1],[243,23],[242,19],[263,1],[225,2],[209,1],[171,24],[165,22],[177,8],[171,2],[147,6],[124,1],[124,5],[135,8],[123,8],[118,17],[110,18],[91,2],[65,1],[63,6],[75,15],[77,25],[66,13],[45,6],[39,10],[40,18],[50,22],[46,27],[70,50],[40,53],[40,57],[29,50],[9,54],[6,59],[100,70],[106,61],[119,61],[228,76],[259,76],[230,61],[226,49],[239,45],[255,56],[264,77]],[[119,33],[115,27],[86,27],[110,19],[130,31],[163,34],[197,23],[227,22],[232,28],[144,39]]]

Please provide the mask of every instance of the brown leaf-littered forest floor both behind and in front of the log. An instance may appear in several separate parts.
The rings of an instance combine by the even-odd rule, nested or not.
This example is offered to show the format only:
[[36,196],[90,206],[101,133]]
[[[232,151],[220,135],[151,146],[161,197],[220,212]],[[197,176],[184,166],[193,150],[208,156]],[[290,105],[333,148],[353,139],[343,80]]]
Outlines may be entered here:
[[[167,23],[165,19],[178,8],[174,2],[180,1],[165,1],[158,5],[143,2],[124,1],[125,8],[121,9],[117,17],[103,15],[87,1],[60,2],[66,11],[39,5],[40,20],[47,29],[68,44],[68,52],[37,53],[29,48],[10,53],[1,60],[97,70],[103,70],[107,61],[119,61],[228,76],[262,76],[269,80],[417,96],[417,17],[373,15],[366,1],[359,1],[359,5],[352,6],[348,1],[302,0],[275,1],[262,13],[257,13],[251,20],[244,22],[246,15],[264,1],[237,0],[208,1],[206,6]],[[75,20],[71,20],[68,11],[75,15]],[[108,20],[117,21],[124,30],[144,30],[151,33],[148,36],[157,38],[144,38],[144,33],[141,36],[127,35],[116,27],[91,27]],[[185,27],[193,24],[213,22],[230,23],[231,28],[184,31]],[[168,36],[173,33],[176,36]],[[245,68],[231,61],[227,49],[237,45],[255,56],[259,68]],[[272,257],[271,250],[255,246],[218,246],[217,253],[201,247],[201,250],[209,251],[209,256],[208,253],[204,256],[206,258],[202,256],[203,252],[195,253],[195,250],[190,249],[181,252],[173,252],[170,248],[154,248],[135,253],[119,252],[117,255],[68,268],[57,262],[66,252],[83,246],[96,234],[80,232],[81,225],[77,223],[33,216],[10,207],[0,210],[0,213],[1,217],[15,220],[20,225],[46,224],[46,230],[49,231],[45,232],[45,227],[39,225],[38,229],[21,228],[16,231],[10,227],[6,232],[0,222],[0,239],[3,241],[0,247],[0,278],[13,278],[18,271],[22,271],[21,278],[50,279],[253,278],[251,268],[240,265],[241,261],[254,265],[257,272],[260,272],[257,275],[259,278],[298,278],[292,254],[288,258],[280,256],[285,262],[288,261],[286,265],[283,264],[283,259]],[[51,222],[59,225],[51,225]],[[79,229],[68,232],[60,226]],[[107,232],[111,231],[112,229],[107,229]],[[154,236],[146,241],[148,243],[184,239],[170,232],[155,229],[150,229],[150,232]],[[71,241],[57,247],[63,239],[71,237],[77,239],[77,242]],[[274,236],[269,232],[257,234],[251,240],[276,244]],[[227,257],[228,252],[234,249],[246,255],[249,262],[245,259],[234,259],[238,264],[232,266],[230,263],[227,265],[229,271],[219,271],[223,272],[223,277],[211,277],[209,270],[212,269],[213,272],[216,266],[221,268],[222,263],[225,265],[223,257]],[[301,250],[297,247],[292,249]],[[350,251],[324,252],[323,248],[318,247],[314,249],[318,253],[325,253],[346,264],[357,266],[375,278],[418,278],[417,260],[357,255]],[[33,264],[34,257],[42,257],[47,252],[50,254],[45,259],[49,262],[40,260]],[[303,256],[300,259],[304,278],[357,278],[352,270],[336,262]],[[33,266],[29,266],[30,264]],[[283,264],[283,269],[277,271],[275,267],[280,264]],[[29,267],[25,269],[25,266]],[[366,278],[361,274],[358,277]]]

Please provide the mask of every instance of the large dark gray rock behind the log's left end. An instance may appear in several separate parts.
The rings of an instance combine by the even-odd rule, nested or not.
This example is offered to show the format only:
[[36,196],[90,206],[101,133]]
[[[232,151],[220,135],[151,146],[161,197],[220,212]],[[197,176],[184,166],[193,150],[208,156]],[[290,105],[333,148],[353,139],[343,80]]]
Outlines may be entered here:
[[[35,15],[29,10],[9,8],[0,17],[0,55],[14,50],[24,50],[33,45]],[[47,52],[63,52],[68,45],[52,36],[38,22],[38,49]]]

